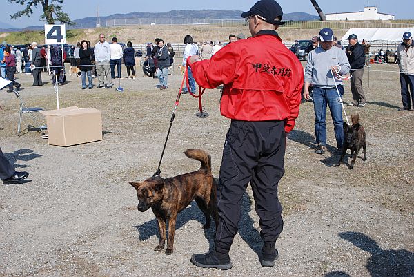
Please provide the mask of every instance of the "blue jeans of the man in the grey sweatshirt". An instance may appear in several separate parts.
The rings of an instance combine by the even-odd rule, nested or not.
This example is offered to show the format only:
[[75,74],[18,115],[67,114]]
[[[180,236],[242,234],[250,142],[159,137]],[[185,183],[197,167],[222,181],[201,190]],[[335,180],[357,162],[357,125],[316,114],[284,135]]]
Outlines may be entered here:
[[[338,86],[341,96],[344,87]],[[344,120],[342,106],[336,88],[313,88],[313,108],[315,110],[315,137],[317,144],[326,146],[326,104],[329,106],[333,120],[337,147],[342,149],[344,144]]]

